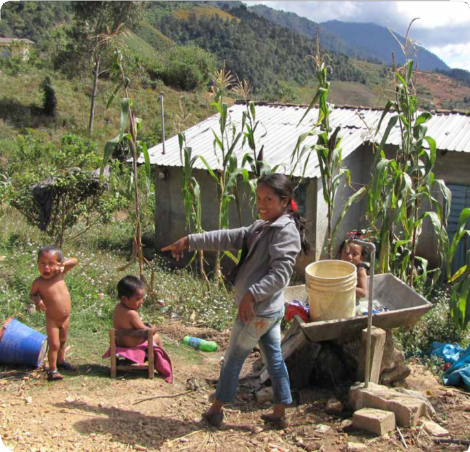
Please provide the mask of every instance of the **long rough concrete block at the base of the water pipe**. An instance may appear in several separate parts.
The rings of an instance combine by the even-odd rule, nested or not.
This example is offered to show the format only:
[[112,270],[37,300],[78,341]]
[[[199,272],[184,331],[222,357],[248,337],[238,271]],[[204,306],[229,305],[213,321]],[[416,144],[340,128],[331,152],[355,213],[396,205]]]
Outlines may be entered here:
[[393,388],[369,383],[368,388],[359,384],[350,388],[349,404],[355,411],[361,408],[377,408],[392,411],[396,424],[401,427],[416,425],[426,415],[426,404],[411,394],[403,394]]

